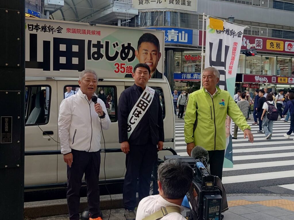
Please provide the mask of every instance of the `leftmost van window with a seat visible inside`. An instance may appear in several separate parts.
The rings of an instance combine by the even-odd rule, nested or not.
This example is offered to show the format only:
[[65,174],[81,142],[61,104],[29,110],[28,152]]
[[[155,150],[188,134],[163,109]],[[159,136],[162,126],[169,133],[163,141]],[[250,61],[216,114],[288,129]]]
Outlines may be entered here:
[[26,86],[26,126],[47,124],[49,121],[51,87]]

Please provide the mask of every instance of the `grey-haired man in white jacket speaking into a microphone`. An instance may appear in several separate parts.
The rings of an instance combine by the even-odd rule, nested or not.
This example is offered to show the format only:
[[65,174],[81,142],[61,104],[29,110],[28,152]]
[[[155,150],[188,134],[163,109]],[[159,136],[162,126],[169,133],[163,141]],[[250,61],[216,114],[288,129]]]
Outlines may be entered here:
[[80,89],[64,99],[59,108],[59,137],[61,153],[67,164],[67,204],[69,219],[79,220],[80,188],[83,175],[87,184],[90,220],[102,220],[99,203],[99,171],[101,127],[107,130],[110,119],[101,99],[94,104],[97,75],[93,70],[84,70],[78,79]]

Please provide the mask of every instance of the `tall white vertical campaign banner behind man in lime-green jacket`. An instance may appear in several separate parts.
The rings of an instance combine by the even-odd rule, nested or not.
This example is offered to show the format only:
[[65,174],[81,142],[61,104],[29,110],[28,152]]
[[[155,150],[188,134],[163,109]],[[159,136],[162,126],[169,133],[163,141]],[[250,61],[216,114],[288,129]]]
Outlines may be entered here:
[[[243,39],[243,26],[224,22],[216,18],[206,18],[205,68],[215,67],[220,72],[220,89],[227,90],[232,97]],[[221,102],[220,104],[225,105]],[[225,122],[226,149],[223,167],[233,167],[232,121],[227,116]]]

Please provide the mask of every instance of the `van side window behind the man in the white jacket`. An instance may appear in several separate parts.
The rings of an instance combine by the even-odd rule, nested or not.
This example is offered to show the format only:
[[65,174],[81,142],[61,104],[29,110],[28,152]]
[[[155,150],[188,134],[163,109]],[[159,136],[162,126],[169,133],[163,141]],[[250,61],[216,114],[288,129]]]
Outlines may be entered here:
[[[64,87],[64,98],[68,98],[78,92],[80,87],[78,85],[67,85]],[[103,93],[101,94],[101,91]],[[111,122],[117,121],[117,104],[116,104],[116,98],[117,98],[117,92],[115,86],[103,86],[103,87],[97,87],[97,91],[95,92],[99,99],[101,99],[105,106],[106,110],[110,118]]]

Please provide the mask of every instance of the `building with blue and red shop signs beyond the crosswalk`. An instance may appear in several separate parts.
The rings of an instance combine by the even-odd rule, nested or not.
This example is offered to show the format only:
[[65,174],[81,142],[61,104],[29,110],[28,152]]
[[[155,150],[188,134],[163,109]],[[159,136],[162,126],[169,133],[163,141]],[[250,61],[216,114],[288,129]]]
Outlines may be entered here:
[[196,90],[203,13],[249,27],[241,49],[255,44],[257,55],[246,57],[240,51],[236,89],[294,87],[294,0],[68,0],[50,18],[164,30],[164,74],[171,88]]

